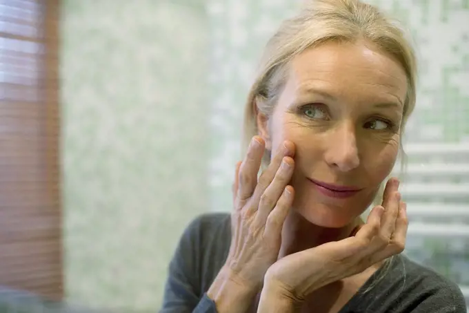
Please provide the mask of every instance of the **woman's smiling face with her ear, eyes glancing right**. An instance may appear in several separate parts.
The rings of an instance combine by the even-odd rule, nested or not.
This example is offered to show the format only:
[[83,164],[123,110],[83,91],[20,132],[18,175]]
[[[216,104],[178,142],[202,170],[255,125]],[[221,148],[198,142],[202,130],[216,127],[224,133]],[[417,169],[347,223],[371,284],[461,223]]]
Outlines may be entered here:
[[259,130],[272,155],[296,146],[293,208],[343,227],[370,205],[397,159],[406,74],[372,45],[323,44],[297,55]]

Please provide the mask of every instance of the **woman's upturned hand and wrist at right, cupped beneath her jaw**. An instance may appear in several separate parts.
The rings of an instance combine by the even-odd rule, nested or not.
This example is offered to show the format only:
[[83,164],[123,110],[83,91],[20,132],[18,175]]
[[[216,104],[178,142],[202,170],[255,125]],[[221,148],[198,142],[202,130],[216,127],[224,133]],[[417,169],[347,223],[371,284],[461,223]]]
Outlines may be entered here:
[[[372,209],[355,236],[297,252],[274,263],[266,273],[264,289],[275,290],[275,297],[301,303],[314,290],[403,252],[408,220],[398,187],[399,180],[388,181],[382,205]],[[261,302],[263,296],[266,295],[261,295]]]

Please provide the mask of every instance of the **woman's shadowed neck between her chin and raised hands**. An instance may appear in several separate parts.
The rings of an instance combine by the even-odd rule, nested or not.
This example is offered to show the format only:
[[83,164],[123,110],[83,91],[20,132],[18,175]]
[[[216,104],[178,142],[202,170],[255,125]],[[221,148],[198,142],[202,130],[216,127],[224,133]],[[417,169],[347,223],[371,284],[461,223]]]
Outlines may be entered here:
[[341,228],[328,228],[314,225],[294,210],[290,211],[283,223],[279,258],[306,249],[317,247],[323,243],[348,238],[354,229],[363,224],[360,218]]

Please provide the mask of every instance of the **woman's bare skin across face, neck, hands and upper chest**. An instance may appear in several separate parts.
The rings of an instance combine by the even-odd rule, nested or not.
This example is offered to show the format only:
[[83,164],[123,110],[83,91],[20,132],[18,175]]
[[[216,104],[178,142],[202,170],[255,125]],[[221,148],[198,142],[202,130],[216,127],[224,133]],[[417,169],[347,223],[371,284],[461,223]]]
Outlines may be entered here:
[[[208,290],[221,313],[337,312],[406,242],[398,180],[366,223],[359,219],[397,159],[401,66],[363,41],[309,48],[289,66],[272,115],[257,113],[259,135],[237,165],[230,252]],[[266,150],[271,162],[258,179]],[[359,191],[327,196],[312,180]]]

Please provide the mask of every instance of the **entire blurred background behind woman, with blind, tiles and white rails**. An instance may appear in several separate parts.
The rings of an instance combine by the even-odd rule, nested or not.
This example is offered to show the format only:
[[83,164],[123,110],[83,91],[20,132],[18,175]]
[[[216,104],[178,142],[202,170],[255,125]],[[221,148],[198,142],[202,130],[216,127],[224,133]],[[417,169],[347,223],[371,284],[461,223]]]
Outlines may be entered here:
[[[0,303],[157,312],[188,222],[231,209],[252,74],[300,2],[0,0]],[[405,253],[469,302],[469,0],[368,2],[419,56]]]

